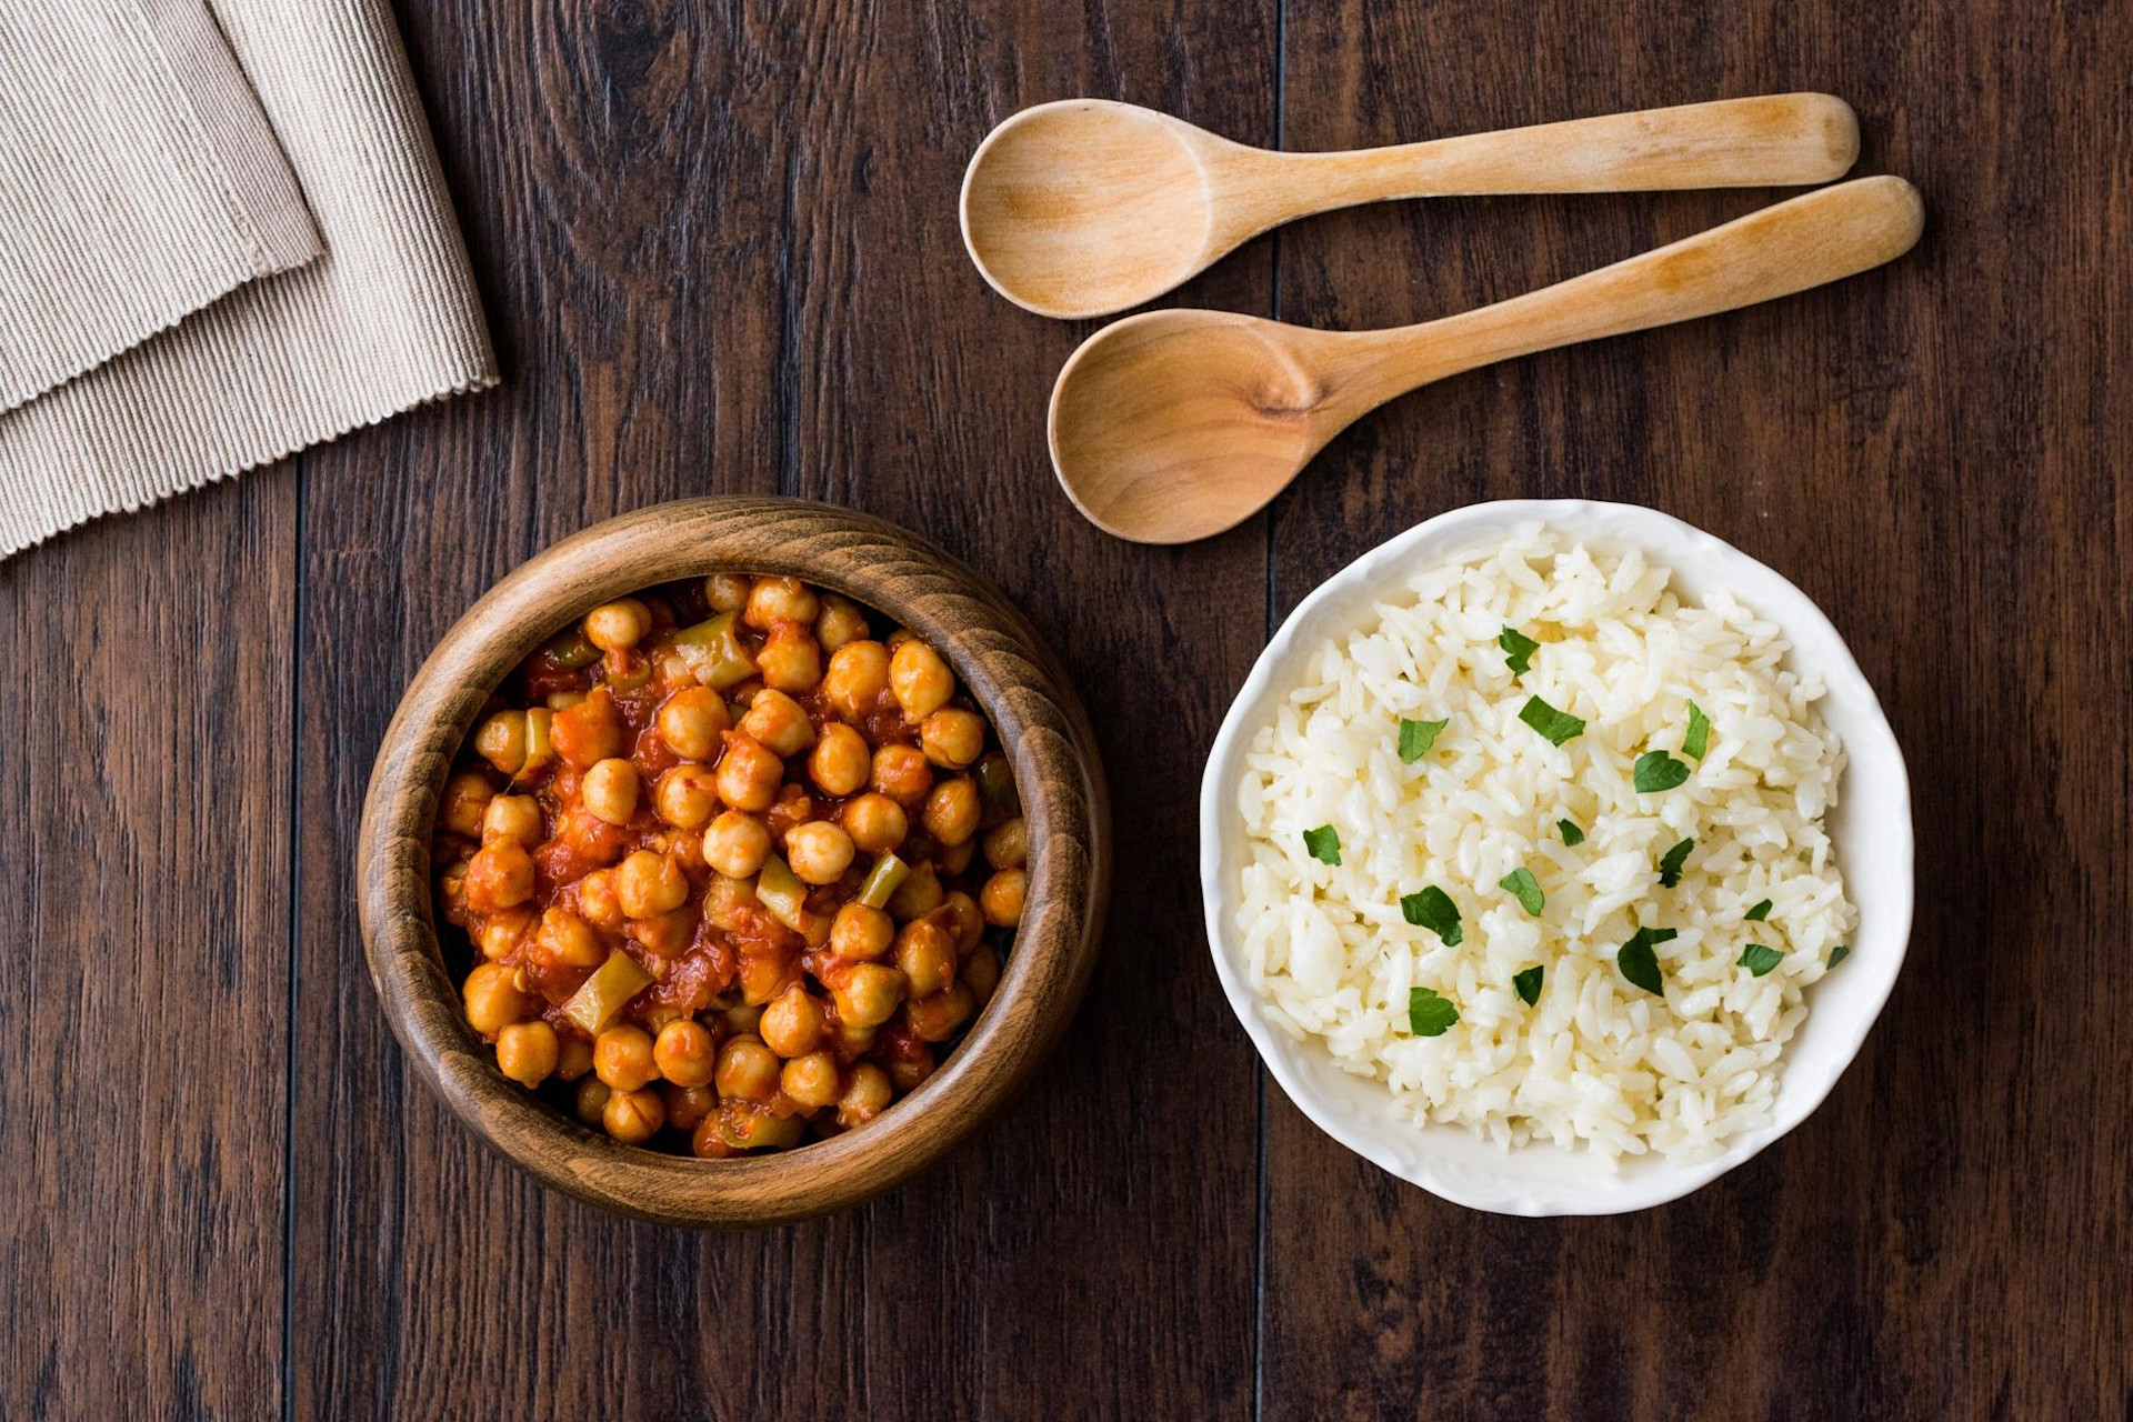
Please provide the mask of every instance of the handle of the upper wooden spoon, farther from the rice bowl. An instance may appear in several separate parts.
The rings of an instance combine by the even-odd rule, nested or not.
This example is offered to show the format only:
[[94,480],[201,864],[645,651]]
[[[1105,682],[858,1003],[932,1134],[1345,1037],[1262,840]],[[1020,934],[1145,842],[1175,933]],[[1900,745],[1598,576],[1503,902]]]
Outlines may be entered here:
[[1350,153],[1276,153],[1303,211],[1491,192],[1764,188],[1843,177],[1860,122],[1832,94],[1764,94]]

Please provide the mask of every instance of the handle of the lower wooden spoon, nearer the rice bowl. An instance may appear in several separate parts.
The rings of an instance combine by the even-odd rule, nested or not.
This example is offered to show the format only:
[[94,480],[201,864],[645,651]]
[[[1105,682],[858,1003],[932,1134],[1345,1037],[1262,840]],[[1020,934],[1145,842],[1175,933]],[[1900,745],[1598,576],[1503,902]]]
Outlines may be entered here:
[[1489,307],[1421,326],[1320,333],[1327,405],[1354,418],[1493,360],[1805,292],[1903,256],[1922,226],[1911,183],[1860,177]]

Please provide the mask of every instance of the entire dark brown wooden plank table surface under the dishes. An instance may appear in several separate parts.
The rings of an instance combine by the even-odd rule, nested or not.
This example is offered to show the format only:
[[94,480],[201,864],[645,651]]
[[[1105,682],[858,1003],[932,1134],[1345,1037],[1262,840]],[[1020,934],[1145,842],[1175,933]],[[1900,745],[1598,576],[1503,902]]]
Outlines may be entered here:
[[[2133,9],[1956,0],[407,0],[506,386],[0,565],[0,1416],[2101,1418],[2133,1399]],[[1090,326],[956,230],[1022,104],[1348,147],[1832,90],[1901,264],[1406,399],[1182,550],[1084,524]],[[1773,194],[1305,222],[1182,298],[1508,296]],[[610,1219],[420,1089],[350,902],[399,689],[499,573],[708,490],[990,571],[1088,689],[1118,898],[1066,1047],[821,1224]],[[1918,795],[1918,930],[1828,1104],[1700,1194],[1499,1219],[1269,1089],[1192,795],[1267,629],[1474,499],[1651,503],[1834,616]]]

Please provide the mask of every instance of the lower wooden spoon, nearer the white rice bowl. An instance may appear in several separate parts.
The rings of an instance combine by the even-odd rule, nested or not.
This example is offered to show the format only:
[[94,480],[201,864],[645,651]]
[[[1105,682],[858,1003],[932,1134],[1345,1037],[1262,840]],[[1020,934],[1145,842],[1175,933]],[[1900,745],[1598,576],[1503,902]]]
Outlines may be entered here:
[[1918,241],[1901,177],[1790,198],[1557,286],[1393,330],[1145,311],[1081,343],[1052,390],[1052,467],[1090,522],[1184,544],[1258,512],[1395,394],[1536,350],[1732,311],[1879,266]]

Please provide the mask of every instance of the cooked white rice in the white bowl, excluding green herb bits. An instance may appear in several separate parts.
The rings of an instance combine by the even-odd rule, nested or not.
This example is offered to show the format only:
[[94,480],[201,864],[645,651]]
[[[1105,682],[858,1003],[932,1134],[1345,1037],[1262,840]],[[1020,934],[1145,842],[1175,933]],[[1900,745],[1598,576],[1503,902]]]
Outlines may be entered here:
[[[1542,644],[1519,678],[1506,625]],[[1856,923],[1822,825],[1843,753],[1813,706],[1819,676],[1785,652],[1730,597],[1687,605],[1640,554],[1538,524],[1414,578],[1316,652],[1246,759],[1237,932],[1269,1017],[1389,1083],[1416,1121],[1506,1147],[1696,1162],[1766,1124],[1805,989]],[[1519,721],[1531,695],[1585,733],[1549,744]],[[1683,750],[1689,701],[1711,718],[1700,761]],[[1414,765],[1397,755],[1404,716],[1450,721]],[[1689,780],[1636,793],[1647,750]],[[1583,844],[1563,844],[1563,819]],[[1337,868],[1305,851],[1318,825],[1340,834]],[[1659,857],[1683,838],[1696,849],[1662,887]],[[1521,866],[1540,917],[1497,887]],[[1459,908],[1457,947],[1401,915],[1429,885]],[[1768,921],[1745,921],[1760,900]],[[1664,998],[1615,966],[1640,925],[1679,932],[1655,949]],[[1783,953],[1766,976],[1738,966],[1751,942]],[[1534,966],[1546,972],[1527,1006],[1512,976]],[[1412,987],[1459,1021],[1414,1036]]]

